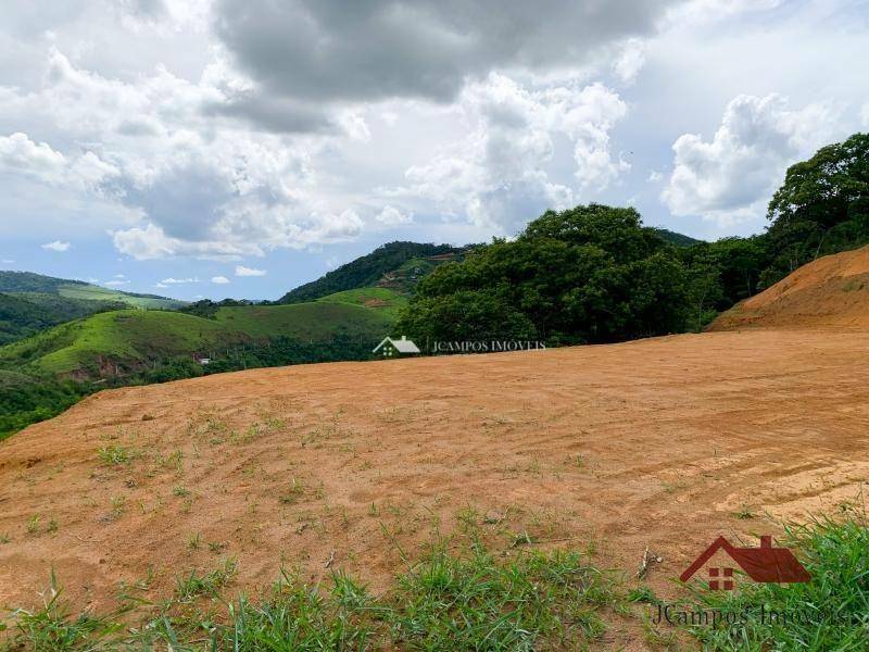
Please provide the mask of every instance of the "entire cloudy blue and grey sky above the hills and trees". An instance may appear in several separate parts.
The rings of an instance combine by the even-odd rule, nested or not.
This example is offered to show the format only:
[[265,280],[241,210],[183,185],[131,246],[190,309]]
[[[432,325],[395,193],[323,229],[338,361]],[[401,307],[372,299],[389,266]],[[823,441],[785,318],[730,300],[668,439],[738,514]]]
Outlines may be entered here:
[[760,233],[869,130],[869,0],[0,0],[0,268],[276,299],[632,205]]

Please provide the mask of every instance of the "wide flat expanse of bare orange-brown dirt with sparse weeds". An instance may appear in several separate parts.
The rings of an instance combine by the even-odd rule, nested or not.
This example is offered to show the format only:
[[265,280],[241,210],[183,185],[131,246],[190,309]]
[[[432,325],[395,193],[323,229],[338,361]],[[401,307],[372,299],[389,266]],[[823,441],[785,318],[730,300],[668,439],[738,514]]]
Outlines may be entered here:
[[239,590],[281,564],[316,581],[333,553],[377,591],[399,547],[471,519],[627,573],[648,546],[667,595],[718,535],[860,504],[868,378],[869,333],[791,329],[104,391],[0,444],[0,604],[52,567],[105,606],[149,567],[160,594],[228,556]]

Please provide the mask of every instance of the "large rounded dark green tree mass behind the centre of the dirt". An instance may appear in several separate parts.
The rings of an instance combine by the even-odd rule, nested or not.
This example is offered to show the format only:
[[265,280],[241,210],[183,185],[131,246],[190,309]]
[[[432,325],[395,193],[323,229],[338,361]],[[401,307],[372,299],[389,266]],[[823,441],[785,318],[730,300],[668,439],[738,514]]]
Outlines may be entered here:
[[419,285],[396,330],[425,341],[603,342],[684,329],[690,278],[630,208],[547,211]]

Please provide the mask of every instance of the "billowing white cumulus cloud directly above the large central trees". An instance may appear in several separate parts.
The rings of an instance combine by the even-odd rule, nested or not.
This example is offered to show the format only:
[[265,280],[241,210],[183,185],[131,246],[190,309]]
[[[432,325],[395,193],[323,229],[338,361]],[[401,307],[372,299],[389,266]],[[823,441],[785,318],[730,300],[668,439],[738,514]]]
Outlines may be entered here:
[[[470,85],[459,102],[470,134],[407,168],[408,185],[388,196],[427,198],[478,226],[511,234],[529,216],[608,187],[630,167],[613,155],[609,141],[627,104],[602,84],[529,89],[493,74]],[[571,143],[575,184],[549,174],[556,138]]]

